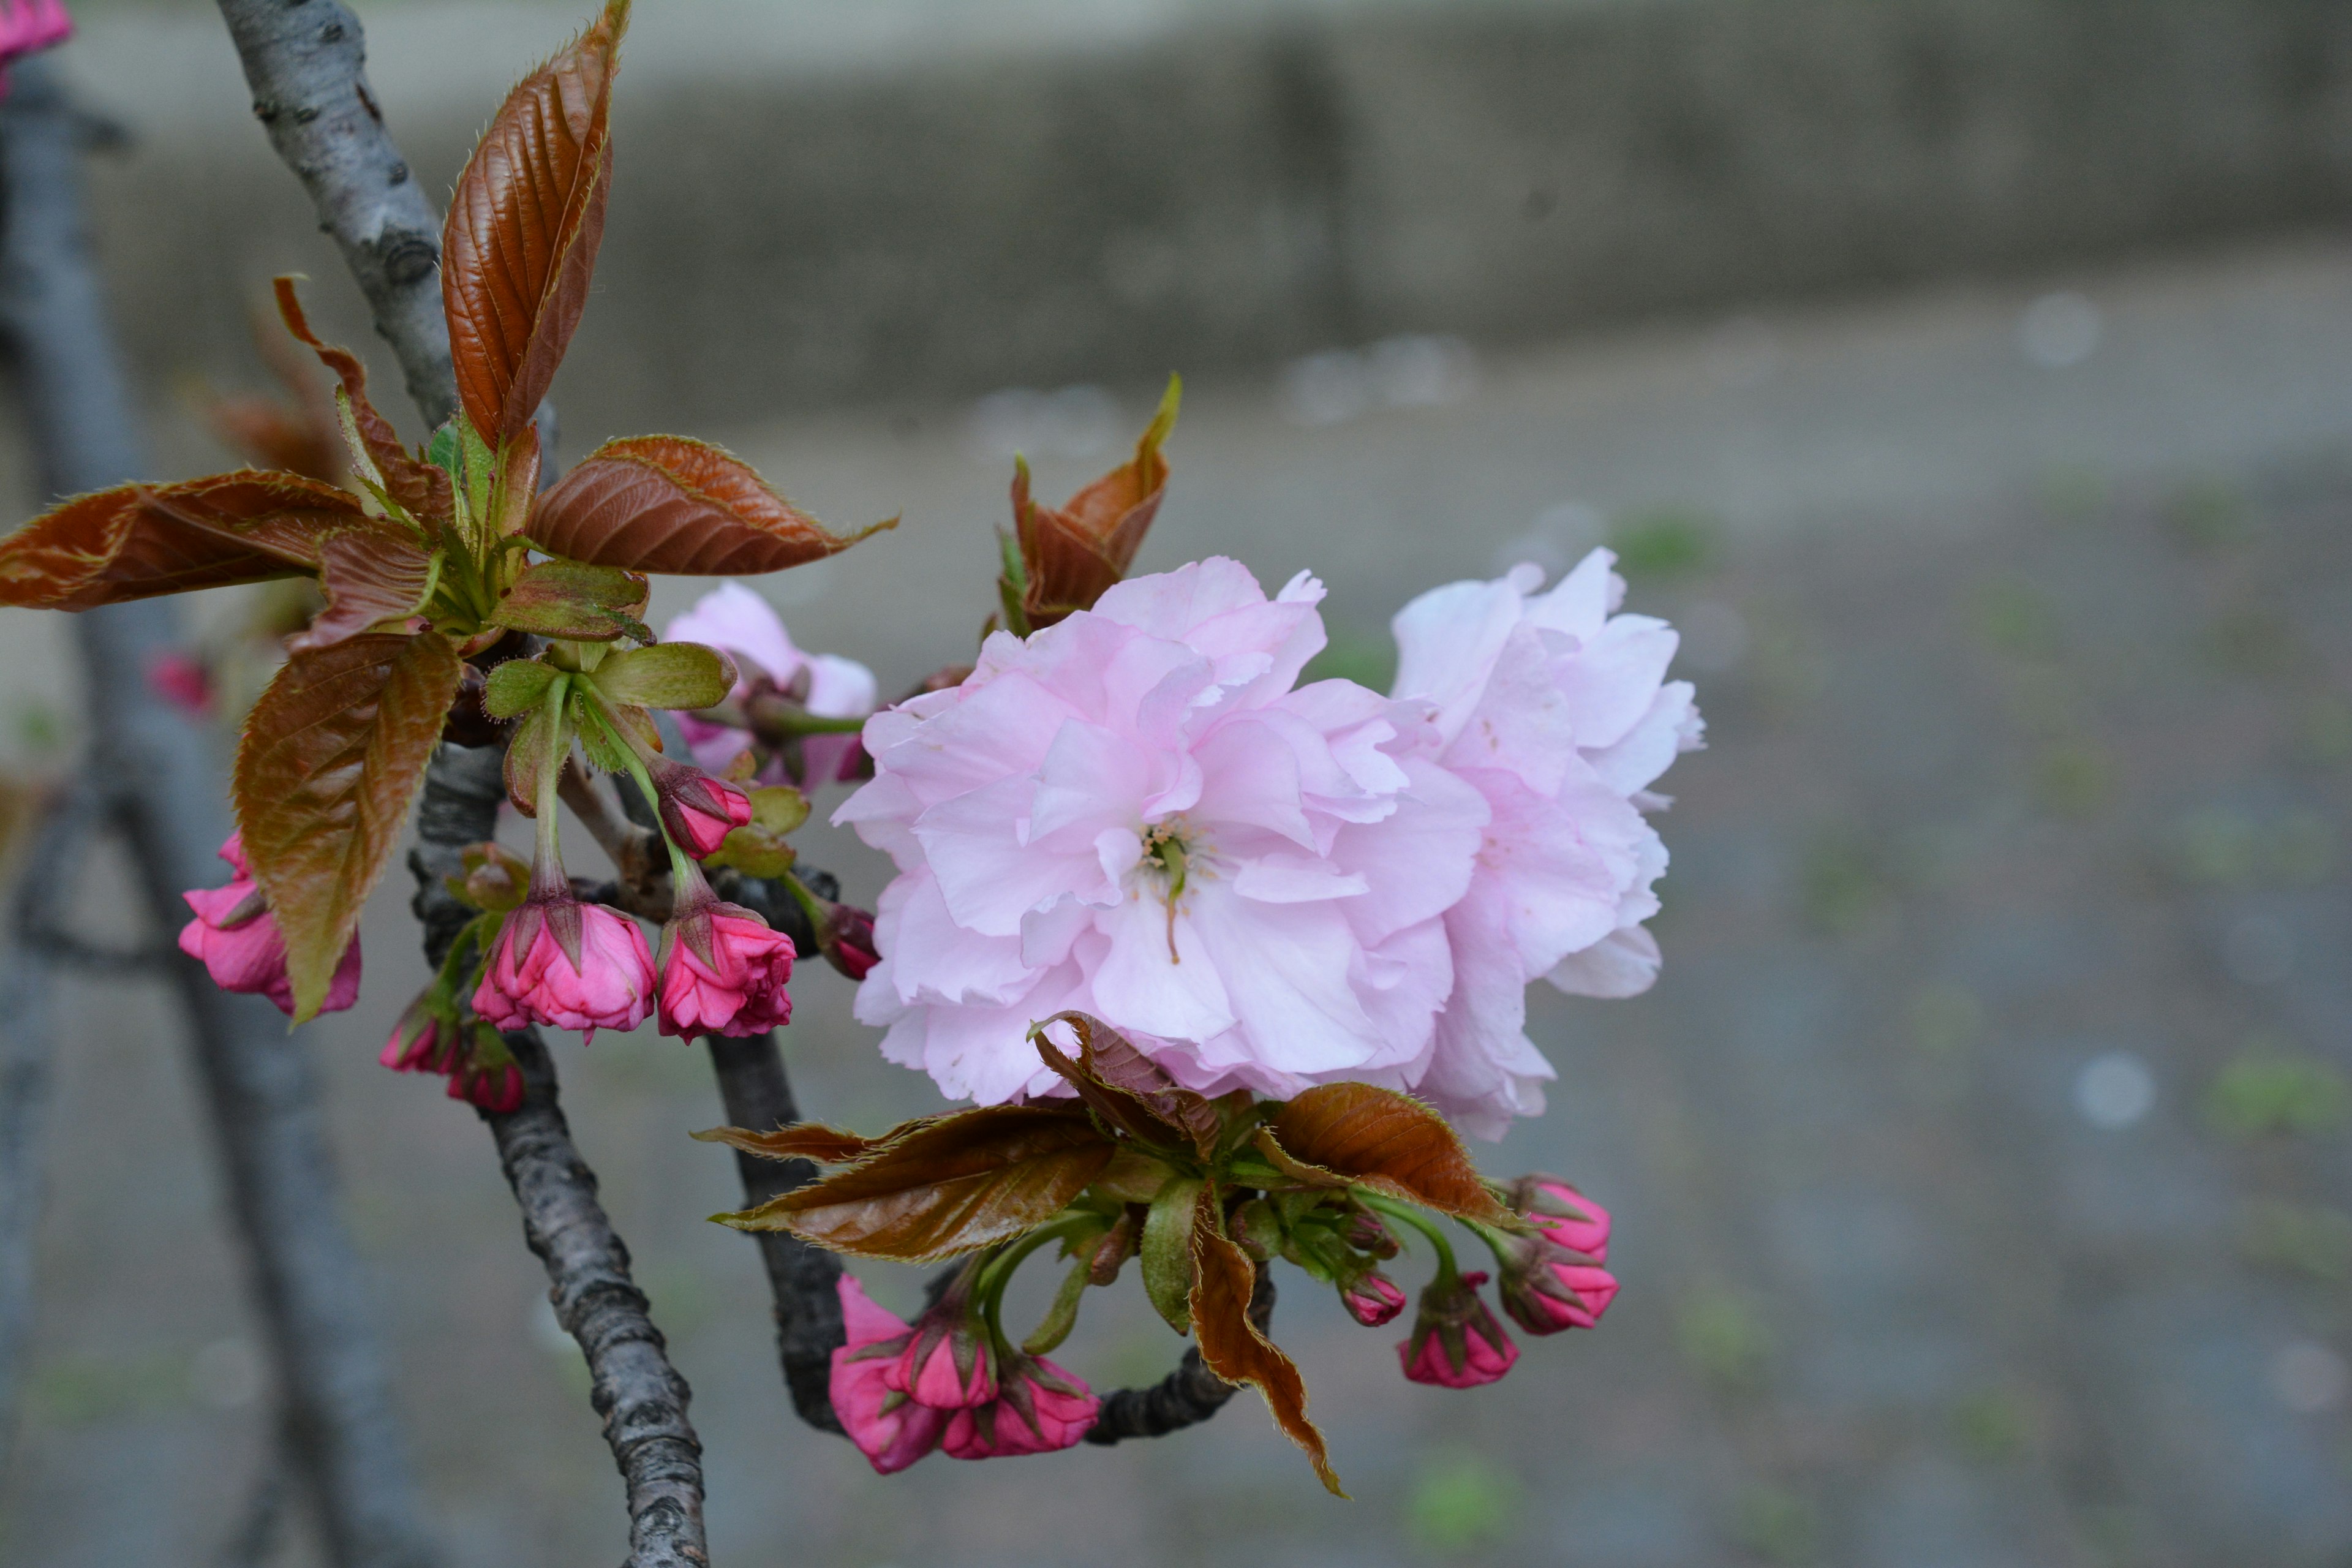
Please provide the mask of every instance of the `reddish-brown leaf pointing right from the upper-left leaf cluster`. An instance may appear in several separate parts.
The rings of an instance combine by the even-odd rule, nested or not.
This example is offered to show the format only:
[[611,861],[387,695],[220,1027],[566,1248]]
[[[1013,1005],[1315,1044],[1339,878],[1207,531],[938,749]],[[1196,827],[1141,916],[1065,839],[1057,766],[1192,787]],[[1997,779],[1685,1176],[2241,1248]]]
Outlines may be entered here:
[[750,576],[837,555],[896,522],[835,534],[720,447],[633,435],[604,442],[541,496],[527,536],[600,567]]

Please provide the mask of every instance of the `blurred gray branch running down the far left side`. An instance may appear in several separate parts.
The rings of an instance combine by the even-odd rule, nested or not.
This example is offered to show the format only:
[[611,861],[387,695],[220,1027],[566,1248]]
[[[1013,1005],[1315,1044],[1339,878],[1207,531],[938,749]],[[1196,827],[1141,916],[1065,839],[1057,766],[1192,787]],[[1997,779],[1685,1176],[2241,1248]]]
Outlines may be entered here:
[[[82,219],[78,122],[47,59],[9,71],[0,106],[0,301],[49,494],[139,477],[132,402]],[[181,642],[169,599],[75,616],[94,776],[120,785],[139,891],[160,929],[181,889],[221,879],[228,809],[207,733],[158,698],[151,661]],[[233,997],[172,957],[198,1077],[245,1239],[282,1396],[285,1453],[339,1566],[430,1561],[360,1260],[336,1213],[318,1081],[303,1044],[259,997]]]

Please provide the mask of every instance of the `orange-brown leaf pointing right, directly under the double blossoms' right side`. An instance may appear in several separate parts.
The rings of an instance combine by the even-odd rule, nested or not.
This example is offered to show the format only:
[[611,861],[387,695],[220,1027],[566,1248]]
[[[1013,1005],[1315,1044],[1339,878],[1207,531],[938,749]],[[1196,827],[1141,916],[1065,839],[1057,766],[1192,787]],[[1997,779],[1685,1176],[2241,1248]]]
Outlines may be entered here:
[[1446,1119],[1395,1088],[1322,1084],[1294,1095],[1268,1131],[1291,1159],[1374,1192],[1465,1220],[1510,1220]]

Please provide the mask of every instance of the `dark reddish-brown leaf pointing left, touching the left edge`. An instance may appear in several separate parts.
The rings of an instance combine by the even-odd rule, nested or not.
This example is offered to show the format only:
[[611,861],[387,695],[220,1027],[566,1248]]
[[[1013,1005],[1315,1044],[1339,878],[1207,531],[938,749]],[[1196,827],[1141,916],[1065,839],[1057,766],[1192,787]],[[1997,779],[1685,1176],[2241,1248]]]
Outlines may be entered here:
[[75,496],[0,541],[0,604],[92,609],[315,571],[320,543],[369,527],[332,484],[245,468]]

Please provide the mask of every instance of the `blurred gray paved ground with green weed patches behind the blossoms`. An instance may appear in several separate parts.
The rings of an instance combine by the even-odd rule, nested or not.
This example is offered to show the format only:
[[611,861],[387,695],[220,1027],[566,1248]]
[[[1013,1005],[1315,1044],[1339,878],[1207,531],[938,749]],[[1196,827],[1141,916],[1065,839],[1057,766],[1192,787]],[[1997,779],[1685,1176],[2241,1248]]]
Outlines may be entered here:
[[[581,1145],[696,1389],[715,1561],[2343,1563],[2347,244],[1566,339],[1456,364],[1430,407],[1381,407],[1369,362],[1308,381],[1192,386],[1145,567],[1315,567],[1362,663],[1409,592],[1616,536],[1635,604],[1689,630],[1712,745],[1672,776],[1665,978],[1541,999],[1555,1110],[1489,1154],[1616,1206],[1625,1293],[1444,1394],[1291,1291],[1277,1328],[1355,1505],[1247,1401],[1152,1446],[875,1479],[793,1422],[757,1262],[699,1218],[731,1180],[682,1135],[715,1119],[701,1060],[569,1046]],[[1367,411],[1296,423],[1345,409],[1334,386]],[[906,510],[764,583],[804,644],[896,686],[988,611],[1002,444],[1061,494],[1150,390],[1117,397],[701,433],[830,520]],[[214,461],[158,423],[172,473]],[[0,616],[19,719],[66,708],[54,639]],[[809,853],[877,886],[837,835]],[[118,879],[75,907],[108,929]],[[421,978],[379,898],[365,1001],[313,1037],[449,1561],[609,1561],[609,1460],[487,1138],[374,1065]],[[811,1114],[934,1105],[844,983],[809,971],[797,1001]],[[162,999],[78,985],[64,1016],[0,1563],[205,1561],[266,1453],[214,1175]],[[1120,1293],[1068,1363],[1112,1382],[1174,1349]]]

